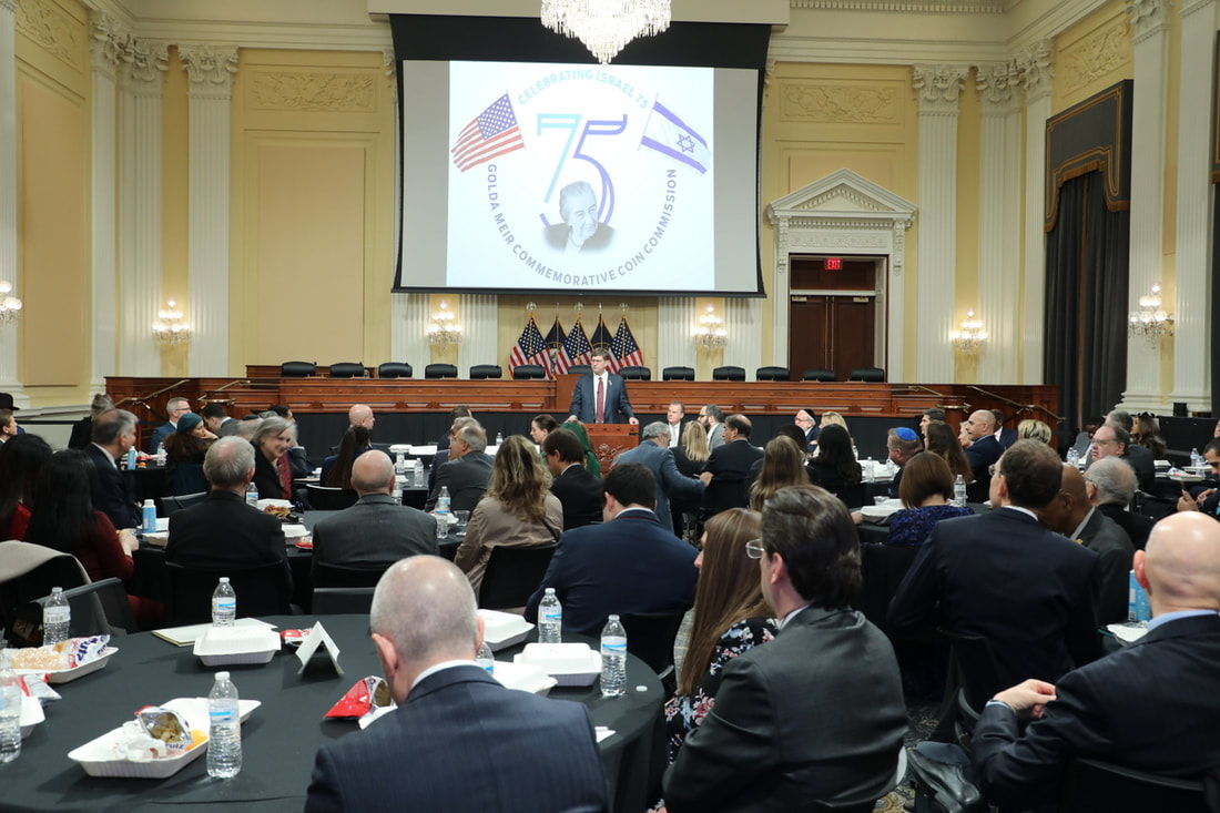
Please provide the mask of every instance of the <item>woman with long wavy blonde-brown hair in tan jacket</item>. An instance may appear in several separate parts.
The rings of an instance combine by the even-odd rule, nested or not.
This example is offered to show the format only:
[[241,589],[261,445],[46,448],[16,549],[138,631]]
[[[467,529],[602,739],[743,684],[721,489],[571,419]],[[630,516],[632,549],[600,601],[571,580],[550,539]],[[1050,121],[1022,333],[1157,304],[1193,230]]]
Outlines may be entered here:
[[495,453],[487,494],[471,511],[454,564],[478,596],[492,548],[555,544],[562,527],[564,507],[547,488],[538,453],[523,435],[510,435]]

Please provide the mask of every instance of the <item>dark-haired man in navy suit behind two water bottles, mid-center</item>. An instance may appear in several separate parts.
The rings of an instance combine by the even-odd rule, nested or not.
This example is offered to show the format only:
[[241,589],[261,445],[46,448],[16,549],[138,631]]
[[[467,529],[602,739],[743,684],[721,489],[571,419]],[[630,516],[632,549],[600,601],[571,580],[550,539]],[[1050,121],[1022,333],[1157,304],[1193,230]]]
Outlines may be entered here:
[[566,531],[525,616],[554,587],[564,605],[564,631],[597,637],[610,613],[666,613],[694,603],[698,553],[678,541],[669,518],[653,511],[656,481],[648,466],[626,463],[605,479],[601,525]]

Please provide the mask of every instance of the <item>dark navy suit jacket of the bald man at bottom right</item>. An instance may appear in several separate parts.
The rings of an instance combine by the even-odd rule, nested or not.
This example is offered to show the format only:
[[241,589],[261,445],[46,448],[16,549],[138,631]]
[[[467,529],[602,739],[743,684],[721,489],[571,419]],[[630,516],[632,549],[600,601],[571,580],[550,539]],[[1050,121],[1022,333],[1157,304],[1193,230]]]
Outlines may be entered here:
[[1024,736],[1013,712],[989,706],[974,735],[981,789],[1005,808],[1052,802],[1071,757],[1198,776],[1220,764],[1218,671],[1220,616],[1210,613],[1166,621],[1068,673]]

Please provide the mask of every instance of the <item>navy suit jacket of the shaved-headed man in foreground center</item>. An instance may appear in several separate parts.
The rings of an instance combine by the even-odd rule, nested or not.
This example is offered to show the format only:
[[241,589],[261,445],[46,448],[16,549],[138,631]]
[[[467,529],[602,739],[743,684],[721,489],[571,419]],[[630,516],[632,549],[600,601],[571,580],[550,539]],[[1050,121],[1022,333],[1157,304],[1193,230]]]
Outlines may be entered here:
[[583,706],[460,665],[425,678],[367,730],[318,748],[305,811],[592,813],[606,809],[605,791]]

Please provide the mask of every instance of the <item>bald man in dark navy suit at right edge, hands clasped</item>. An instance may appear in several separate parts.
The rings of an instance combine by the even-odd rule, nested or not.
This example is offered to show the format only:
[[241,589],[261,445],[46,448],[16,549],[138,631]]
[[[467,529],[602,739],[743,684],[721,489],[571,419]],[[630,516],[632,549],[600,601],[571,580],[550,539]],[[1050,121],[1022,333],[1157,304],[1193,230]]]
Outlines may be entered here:
[[1197,513],[1160,520],[1135,574],[1152,603],[1143,638],[1058,684],[1002,691],[983,709],[972,756],[992,804],[1054,802],[1072,757],[1163,776],[1220,764],[1220,524]]

